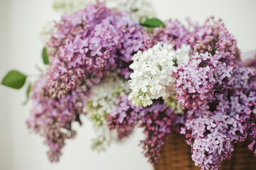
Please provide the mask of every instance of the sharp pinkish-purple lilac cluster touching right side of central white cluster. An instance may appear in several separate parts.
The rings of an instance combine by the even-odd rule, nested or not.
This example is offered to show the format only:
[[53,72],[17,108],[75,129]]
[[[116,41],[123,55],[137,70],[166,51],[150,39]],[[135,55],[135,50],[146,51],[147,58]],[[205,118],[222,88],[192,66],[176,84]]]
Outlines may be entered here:
[[233,63],[221,62],[223,55],[196,52],[188,64],[178,65],[176,91],[179,102],[188,109],[197,110],[208,102],[216,90],[223,90],[233,81]]

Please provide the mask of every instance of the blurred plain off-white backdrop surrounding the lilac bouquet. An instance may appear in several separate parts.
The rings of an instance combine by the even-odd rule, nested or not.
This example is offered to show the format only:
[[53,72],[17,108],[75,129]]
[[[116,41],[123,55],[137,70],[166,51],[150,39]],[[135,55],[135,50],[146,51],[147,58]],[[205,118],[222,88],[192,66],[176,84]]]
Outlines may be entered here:
[[[242,52],[256,49],[255,0],[149,0],[156,13],[165,20],[178,18],[185,22],[203,23],[209,16],[222,18],[230,33],[238,40]],[[0,79],[10,69],[36,74],[35,64],[43,67],[43,43],[39,33],[47,21],[60,14],[52,9],[51,0],[0,0]],[[29,79],[29,81],[33,81]],[[95,131],[84,118],[84,125],[75,125],[78,135],[68,140],[60,162],[50,164],[43,138],[31,134],[26,127],[31,103],[23,106],[26,89],[16,91],[0,86],[0,170],[141,170],[153,169],[138,147],[142,130],[122,143],[113,143],[107,152],[97,154],[90,149]]]

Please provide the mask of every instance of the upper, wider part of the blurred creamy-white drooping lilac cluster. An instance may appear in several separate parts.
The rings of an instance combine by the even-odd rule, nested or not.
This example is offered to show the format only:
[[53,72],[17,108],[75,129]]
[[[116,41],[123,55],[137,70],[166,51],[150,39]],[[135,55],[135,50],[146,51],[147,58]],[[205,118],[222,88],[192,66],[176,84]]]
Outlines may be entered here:
[[116,108],[117,98],[128,93],[127,81],[119,79],[119,77],[106,77],[102,84],[92,87],[90,98],[83,111],[89,114],[95,127],[100,128],[105,124],[110,112]]

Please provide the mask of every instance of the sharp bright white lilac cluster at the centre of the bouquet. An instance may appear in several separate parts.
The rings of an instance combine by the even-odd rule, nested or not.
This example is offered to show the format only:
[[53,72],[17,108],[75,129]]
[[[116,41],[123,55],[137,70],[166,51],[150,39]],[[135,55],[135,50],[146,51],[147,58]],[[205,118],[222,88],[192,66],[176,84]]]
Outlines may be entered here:
[[176,91],[172,85],[176,78],[171,74],[176,72],[178,64],[188,62],[190,51],[189,45],[174,50],[172,45],[158,43],[149,50],[137,52],[130,65],[134,70],[129,80],[132,104],[146,107],[152,104],[152,99],[175,98]]

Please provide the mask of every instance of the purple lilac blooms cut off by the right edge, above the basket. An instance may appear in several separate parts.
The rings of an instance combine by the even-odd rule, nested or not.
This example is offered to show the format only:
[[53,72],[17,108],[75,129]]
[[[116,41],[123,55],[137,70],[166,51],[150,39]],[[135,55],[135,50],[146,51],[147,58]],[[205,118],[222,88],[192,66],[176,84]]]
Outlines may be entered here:
[[230,114],[240,113],[244,134],[252,141],[248,149],[256,156],[256,69],[238,65],[235,74]]

